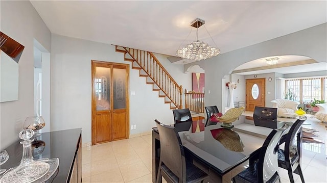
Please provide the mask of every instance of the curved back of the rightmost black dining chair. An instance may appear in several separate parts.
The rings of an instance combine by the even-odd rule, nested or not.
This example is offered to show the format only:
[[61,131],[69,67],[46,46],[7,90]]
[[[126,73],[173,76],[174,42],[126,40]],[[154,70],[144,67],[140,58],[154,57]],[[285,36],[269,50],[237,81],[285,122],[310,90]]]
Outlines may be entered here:
[[[291,126],[289,132],[283,136],[285,140],[285,161],[289,162],[294,170],[299,164],[301,157],[301,139],[302,139],[302,128],[301,125],[307,118],[297,119]],[[295,161],[292,161],[295,160]]]

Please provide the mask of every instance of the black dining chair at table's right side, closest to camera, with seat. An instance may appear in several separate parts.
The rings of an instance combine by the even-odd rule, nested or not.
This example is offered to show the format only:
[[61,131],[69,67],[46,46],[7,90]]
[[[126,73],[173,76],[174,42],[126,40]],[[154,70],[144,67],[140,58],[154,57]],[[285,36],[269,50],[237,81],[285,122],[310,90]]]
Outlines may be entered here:
[[249,167],[232,178],[233,183],[238,182],[281,182],[278,175],[278,142],[288,128],[273,129],[264,144],[250,154]]

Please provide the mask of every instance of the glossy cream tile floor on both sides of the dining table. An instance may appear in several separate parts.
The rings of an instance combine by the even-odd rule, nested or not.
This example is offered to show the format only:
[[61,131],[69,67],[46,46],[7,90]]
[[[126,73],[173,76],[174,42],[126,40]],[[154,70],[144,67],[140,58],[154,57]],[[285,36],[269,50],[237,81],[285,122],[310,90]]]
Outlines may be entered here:
[[[327,143],[326,123],[308,119],[304,127],[319,130]],[[151,135],[82,148],[83,182],[152,182]],[[302,171],[307,183],[327,182],[327,148],[324,144],[303,143]],[[279,169],[282,182],[290,182],[287,171]],[[301,182],[294,174],[295,182]]]

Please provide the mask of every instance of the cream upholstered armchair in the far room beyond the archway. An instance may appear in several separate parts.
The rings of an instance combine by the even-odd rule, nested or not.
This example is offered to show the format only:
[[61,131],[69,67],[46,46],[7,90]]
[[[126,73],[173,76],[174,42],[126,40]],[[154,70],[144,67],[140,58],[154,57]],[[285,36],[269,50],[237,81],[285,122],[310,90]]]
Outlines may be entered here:
[[294,114],[297,111],[297,106],[300,102],[287,100],[287,99],[274,99],[271,100],[272,107],[277,108],[277,116],[284,117],[284,118],[293,118],[294,115],[285,114],[285,113],[292,113]]

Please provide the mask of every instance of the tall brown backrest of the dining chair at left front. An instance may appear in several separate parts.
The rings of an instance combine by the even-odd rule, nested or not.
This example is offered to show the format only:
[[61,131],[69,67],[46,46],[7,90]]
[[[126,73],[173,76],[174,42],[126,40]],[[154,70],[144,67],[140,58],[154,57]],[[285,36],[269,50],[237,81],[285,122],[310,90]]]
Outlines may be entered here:
[[162,124],[158,120],[155,120],[155,122],[160,138],[160,161],[179,179],[185,178],[184,148],[178,134],[174,130],[175,127]]

